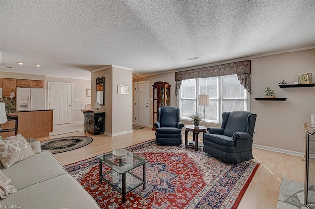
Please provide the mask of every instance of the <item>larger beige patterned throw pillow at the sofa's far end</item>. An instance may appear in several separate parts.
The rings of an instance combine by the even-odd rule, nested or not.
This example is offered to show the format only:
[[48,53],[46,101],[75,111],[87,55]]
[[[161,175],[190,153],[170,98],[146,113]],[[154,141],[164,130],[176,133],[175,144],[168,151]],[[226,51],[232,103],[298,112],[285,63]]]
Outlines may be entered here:
[[6,168],[33,155],[31,145],[20,133],[0,140],[1,163]]

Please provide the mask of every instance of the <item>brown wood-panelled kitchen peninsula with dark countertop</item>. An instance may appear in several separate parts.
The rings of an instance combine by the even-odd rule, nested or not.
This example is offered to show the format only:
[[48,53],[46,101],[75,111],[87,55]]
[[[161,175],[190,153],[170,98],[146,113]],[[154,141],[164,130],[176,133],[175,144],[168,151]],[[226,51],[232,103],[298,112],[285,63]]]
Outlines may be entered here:
[[[53,110],[32,110],[32,111],[15,111],[11,115],[17,115],[18,133],[24,138],[40,138],[49,136],[53,131]],[[2,129],[12,129],[15,127],[14,121],[7,121],[1,124]],[[0,133],[2,138],[14,136],[14,132]]]

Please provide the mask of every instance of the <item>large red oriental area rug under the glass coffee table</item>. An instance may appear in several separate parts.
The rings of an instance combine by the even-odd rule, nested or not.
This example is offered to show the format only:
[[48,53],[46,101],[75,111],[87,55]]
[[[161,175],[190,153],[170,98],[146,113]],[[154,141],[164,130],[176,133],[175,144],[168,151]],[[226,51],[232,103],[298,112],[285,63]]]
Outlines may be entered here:
[[[127,193],[126,203],[110,185],[99,183],[97,159],[73,163],[65,169],[104,209],[235,209],[259,166],[254,161],[226,163],[194,148],[159,146],[154,140],[127,149],[149,162],[146,188],[139,186]],[[103,172],[109,170],[104,165]],[[142,176],[142,166],[132,171]]]

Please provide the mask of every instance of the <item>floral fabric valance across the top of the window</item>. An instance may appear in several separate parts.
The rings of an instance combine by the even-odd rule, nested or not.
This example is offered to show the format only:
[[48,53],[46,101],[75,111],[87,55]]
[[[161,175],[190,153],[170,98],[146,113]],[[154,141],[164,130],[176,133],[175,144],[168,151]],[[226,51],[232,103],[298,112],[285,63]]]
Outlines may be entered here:
[[238,80],[241,82],[247,92],[251,93],[251,60],[246,60],[175,72],[175,95],[177,96],[178,90],[182,84],[182,80],[226,76],[233,74],[237,74]]

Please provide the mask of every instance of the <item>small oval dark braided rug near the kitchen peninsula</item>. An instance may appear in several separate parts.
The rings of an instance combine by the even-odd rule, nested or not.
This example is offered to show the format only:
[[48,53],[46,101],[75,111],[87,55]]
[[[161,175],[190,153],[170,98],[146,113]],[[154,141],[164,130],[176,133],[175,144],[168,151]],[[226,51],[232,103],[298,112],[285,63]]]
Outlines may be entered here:
[[41,141],[41,150],[49,150],[53,154],[63,153],[70,150],[75,150],[80,147],[84,147],[93,141],[88,136],[68,136],[56,139],[50,139],[47,141]]

